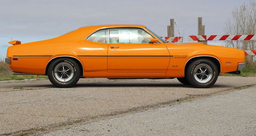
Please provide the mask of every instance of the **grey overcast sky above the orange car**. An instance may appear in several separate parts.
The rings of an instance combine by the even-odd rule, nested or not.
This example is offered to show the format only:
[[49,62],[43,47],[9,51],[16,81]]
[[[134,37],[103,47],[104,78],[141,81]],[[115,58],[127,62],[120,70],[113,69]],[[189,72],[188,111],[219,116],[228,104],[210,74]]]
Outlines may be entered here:
[[0,0],[0,57],[6,56],[11,38],[22,43],[51,39],[88,25],[142,24],[164,37],[174,18],[187,41],[197,35],[197,17],[203,17],[205,34],[224,34],[232,9],[249,1]]

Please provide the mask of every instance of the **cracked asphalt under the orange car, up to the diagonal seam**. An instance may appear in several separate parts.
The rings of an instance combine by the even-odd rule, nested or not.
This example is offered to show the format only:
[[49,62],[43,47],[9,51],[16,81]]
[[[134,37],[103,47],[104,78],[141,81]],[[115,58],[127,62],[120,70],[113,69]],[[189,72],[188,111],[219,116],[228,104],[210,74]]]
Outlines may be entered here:
[[48,80],[0,81],[0,135],[54,128],[252,84],[256,77],[219,77],[208,89],[183,85],[177,79],[80,79],[73,88],[55,88]]

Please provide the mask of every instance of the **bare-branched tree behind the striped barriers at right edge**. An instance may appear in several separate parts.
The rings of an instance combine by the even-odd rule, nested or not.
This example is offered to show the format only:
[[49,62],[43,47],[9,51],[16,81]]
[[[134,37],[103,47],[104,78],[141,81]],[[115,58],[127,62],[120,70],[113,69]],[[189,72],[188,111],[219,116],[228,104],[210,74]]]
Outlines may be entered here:
[[[250,3],[239,7],[234,7],[232,10],[232,18],[228,19],[224,26],[226,34],[256,34],[256,2]],[[225,41],[227,47],[242,49],[242,50],[255,50],[256,44],[254,40],[250,41]],[[254,56],[247,57],[248,60],[253,61]]]

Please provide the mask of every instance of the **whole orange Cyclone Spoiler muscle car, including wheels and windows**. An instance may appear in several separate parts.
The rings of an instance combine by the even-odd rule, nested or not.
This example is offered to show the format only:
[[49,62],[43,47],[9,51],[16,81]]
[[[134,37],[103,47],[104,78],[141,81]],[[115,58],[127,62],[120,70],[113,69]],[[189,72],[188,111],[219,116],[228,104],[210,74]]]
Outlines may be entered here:
[[48,75],[56,87],[79,78],[173,79],[208,88],[219,73],[240,73],[243,50],[201,43],[170,43],[143,25],[81,27],[60,37],[10,41],[6,63],[13,74]]

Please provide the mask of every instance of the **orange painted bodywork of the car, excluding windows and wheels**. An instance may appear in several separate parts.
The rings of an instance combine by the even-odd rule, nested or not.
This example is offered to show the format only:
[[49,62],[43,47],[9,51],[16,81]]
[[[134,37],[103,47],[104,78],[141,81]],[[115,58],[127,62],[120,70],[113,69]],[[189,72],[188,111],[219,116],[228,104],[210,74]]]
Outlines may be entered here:
[[[99,43],[86,40],[95,31],[115,27],[140,28],[160,42]],[[18,61],[11,59],[9,65],[15,72],[45,75],[51,60],[71,57],[81,63],[85,78],[184,77],[189,60],[205,56],[218,59],[221,73],[236,71],[238,63],[245,61],[244,52],[239,49],[201,43],[163,43],[143,25],[81,27],[49,40],[17,43],[7,50],[7,57],[18,58]],[[226,65],[226,62],[231,64]]]

